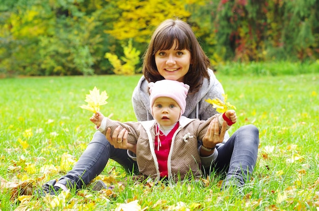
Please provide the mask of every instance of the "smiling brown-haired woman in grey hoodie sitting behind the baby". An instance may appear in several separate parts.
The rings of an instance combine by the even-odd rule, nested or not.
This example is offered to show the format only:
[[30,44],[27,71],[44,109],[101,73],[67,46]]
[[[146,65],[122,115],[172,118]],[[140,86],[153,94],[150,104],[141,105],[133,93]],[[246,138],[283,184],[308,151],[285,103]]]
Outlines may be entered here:
[[[208,57],[187,23],[178,19],[162,22],[152,35],[144,54],[144,76],[132,96],[137,119],[152,119],[147,87],[149,82],[162,79],[177,80],[190,85],[184,116],[207,120],[216,114],[217,111],[205,100],[223,99],[224,90],[209,66]],[[209,168],[202,170],[206,174],[213,170],[226,172],[222,188],[242,186],[249,181],[256,163],[258,129],[253,125],[243,126],[229,137],[228,134],[214,133],[214,128],[219,127],[217,124],[218,122],[211,122],[204,138],[198,140],[201,162],[211,164]],[[102,172],[109,159],[121,164],[128,172],[137,173],[134,155],[136,145],[127,143],[128,133],[125,129],[117,128],[112,137],[110,131],[107,130],[106,138],[102,133],[96,132],[73,169],[58,182],[51,180],[44,184],[37,193],[57,194],[60,190],[84,188]],[[216,136],[221,142],[217,145],[214,141]]]

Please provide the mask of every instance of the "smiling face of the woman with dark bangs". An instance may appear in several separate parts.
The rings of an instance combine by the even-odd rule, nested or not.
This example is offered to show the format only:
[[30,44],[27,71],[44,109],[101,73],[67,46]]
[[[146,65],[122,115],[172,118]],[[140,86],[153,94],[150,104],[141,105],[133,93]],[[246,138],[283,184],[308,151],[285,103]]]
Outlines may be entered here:
[[184,82],[184,76],[190,69],[191,52],[187,49],[175,50],[176,42],[169,50],[155,53],[155,64],[159,74],[165,79]]

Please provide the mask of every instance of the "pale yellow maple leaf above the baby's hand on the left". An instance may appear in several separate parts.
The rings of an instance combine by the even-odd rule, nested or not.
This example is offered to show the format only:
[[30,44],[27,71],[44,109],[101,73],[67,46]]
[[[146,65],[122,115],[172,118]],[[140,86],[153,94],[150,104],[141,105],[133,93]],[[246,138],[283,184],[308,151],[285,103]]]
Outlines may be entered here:
[[82,105],[80,107],[96,113],[97,111],[100,111],[101,105],[108,103],[106,101],[108,98],[109,96],[105,91],[100,94],[100,89],[97,89],[96,86],[94,86],[93,90],[90,90],[90,94],[86,95],[85,102],[87,102],[88,105]]

